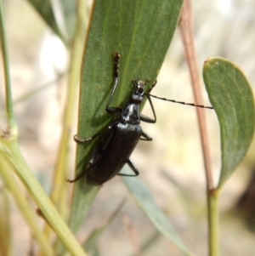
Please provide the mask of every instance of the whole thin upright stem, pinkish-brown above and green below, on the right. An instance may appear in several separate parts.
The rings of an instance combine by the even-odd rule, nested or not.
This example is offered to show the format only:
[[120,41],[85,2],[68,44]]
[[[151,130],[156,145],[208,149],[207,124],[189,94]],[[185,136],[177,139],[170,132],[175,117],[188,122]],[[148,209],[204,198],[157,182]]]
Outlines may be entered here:
[[[185,58],[190,69],[190,79],[195,97],[195,104],[202,105],[201,85],[199,71],[195,57],[195,45],[192,28],[191,2],[184,0],[184,6],[179,21],[179,29],[184,43]],[[207,208],[208,208],[208,232],[209,232],[209,255],[218,255],[218,193],[214,190],[212,180],[212,165],[210,160],[205,111],[196,108],[198,124],[201,134],[201,146],[204,159],[206,180],[207,180]]]

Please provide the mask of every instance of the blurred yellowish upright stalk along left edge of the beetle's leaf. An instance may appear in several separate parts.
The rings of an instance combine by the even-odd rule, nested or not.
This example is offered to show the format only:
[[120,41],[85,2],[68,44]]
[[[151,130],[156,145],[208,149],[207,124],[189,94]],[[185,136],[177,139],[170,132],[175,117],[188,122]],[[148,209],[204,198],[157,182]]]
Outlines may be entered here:
[[[83,49],[83,42],[85,37],[86,31],[86,24],[87,22],[84,20],[84,10],[86,9],[86,1],[80,0],[77,2],[77,27],[76,33],[74,37],[73,48],[71,50],[71,63],[70,63],[70,71],[69,71],[69,79],[68,79],[68,88],[66,92],[66,105],[64,111],[64,121],[62,126],[62,134],[60,138],[60,145],[59,145],[59,154],[57,158],[57,165],[55,167],[54,172],[54,185],[53,191],[51,193],[51,199],[54,204],[58,204],[58,202],[65,202],[64,200],[59,200],[60,196],[65,196],[64,192],[67,192],[67,184],[65,182],[67,169],[68,169],[68,143],[70,140],[70,131],[73,125],[73,113],[74,113],[74,106],[76,105],[77,101],[77,85],[79,81],[79,74],[81,70],[81,63],[82,63],[82,49]],[[66,197],[66,196],[65,196]],[[66,205],[62,205],[59,207],[60,214],[66,212]],[[63,214],[62,214],[63,213]],[[64,215],[65,216],[65,215]]]

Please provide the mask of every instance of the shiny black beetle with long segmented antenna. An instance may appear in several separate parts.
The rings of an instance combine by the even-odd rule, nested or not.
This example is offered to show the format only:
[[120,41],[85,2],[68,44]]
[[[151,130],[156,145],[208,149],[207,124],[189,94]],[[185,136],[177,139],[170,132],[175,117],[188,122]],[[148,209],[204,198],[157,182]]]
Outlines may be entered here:
[[[89,140],[98,137],[101,134],[105,133],[105,138],[103,141],[96,147],[92,156],[89,159],[88,165],[84,168],[83,172],[75,179],[67,179],[69,182],[75,182],[78,179],[81,179],[83,175],[86,174],[86,180],[89,185],[102,185],[109,179],[112,179],[116,175],[122,176],[137,176],[139,175],[138,168],[135,167],[133,162],[129,159],[134,148],[139,142],[139,139],[150,141],[152,138],[144,133],[143,129],[140,126],[140,122],[156,122],[156,113],[150,99],[150,91],[155,87],[156,81],[152,83],[152,86],[149,89],[148,93],[144,93],[144,87],[148,81],[144,82],[136,77],[132,80],[133,83],[133,93],[127,104],[121,107],[112,107],[111,100],[115,94],[117,85],[118,85],[118,67],[121,54],[115,53],[113,56],[113,71],[114,71],[114,86],[111,92],[111,96],[106,105],[105,111],[110,114],[116,114],[117,112],[121,113],[121,117],[117,118],[113,122],[110,122],[107,128],[94,136],[82,139],[77,138],[77,135],[74,136],[75,141],[78,144],[87,143]],[[146,117],[140,113],[139,105],[144,99],[144,95],[147,100],[149,100],[151,111],[153,113],[153,118]],[[151,95],[152,97],[156,97]],[[159,98],[159,97],[156,97]],[[159,98],[161,100],[167,100],[164,98]],[[175,100],[170,100],[175,102]],[[184,102],[178,102],[185,104]],[[192,105],[192,104],[191,104]],[[199,107],[204,107],[201,105],[196,105]],[[120,174],[123,166],[125,164],[133,170],[133,174]]]

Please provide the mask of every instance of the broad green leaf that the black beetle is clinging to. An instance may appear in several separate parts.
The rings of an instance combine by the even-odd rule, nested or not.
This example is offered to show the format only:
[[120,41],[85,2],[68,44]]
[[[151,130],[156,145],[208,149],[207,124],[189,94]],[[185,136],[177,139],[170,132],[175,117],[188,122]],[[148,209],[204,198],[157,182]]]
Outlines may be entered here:
[[[88,34],[84,46],[78,137],[88,138],[111,121],[105,106],[113,86],[112,56],[122,55],[120,83],[112,106],[123,106],[133,90],[131,81],[140,76],[156,79],[178,23],[182,0],[94,0]],[[99,139],[77,146],[77,174],[86,167]],[[104,171],[104,170],[102,170]],[[79,226],[90,205],[85,205],[82,190],[84,179],[74,185],[71,209],[71,228]],[[91,192],[98,188],[91,188]],[[83,213],[84,212],[84,213]]]

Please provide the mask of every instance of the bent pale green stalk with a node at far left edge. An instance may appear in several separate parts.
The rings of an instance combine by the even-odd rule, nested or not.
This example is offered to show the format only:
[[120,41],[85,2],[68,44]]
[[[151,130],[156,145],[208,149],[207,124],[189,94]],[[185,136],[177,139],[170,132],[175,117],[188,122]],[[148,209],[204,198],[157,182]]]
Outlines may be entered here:
[[1,50],[3,54],[3,69],[5,76],[8,134],[11,134],[10,137],[3,137],[2,141],[0,142],[0,152],[2,153],[3,158],[10,164],[15,173],[20,177],[26,186],[26,189],[30,192],[31,197],[37,203],[37,206],[45,216],[45,219],[48,220],[49,225],[52,226],[56,234],[59,236],[59,239],[65,244],[65,247],[69,250],[69,252],[72,255],[86,255],[86,253],[84,253],[82,250],[82,247],[77,242],[76,238],[71,233],[71,230],[68,229],[67,225],[65,225],[65,222],[54,208],[54,205],[48,196],[42,190],[42,187],[38,183],[37,179],[35,179],[35,177],[31,174],[31,170],[21,155],[19,146],[16,141],[17,127],[14,120],[13,101],[10,87],[8,50],[3,24],[2,1],[0,1],[0,34],[2,37]]

